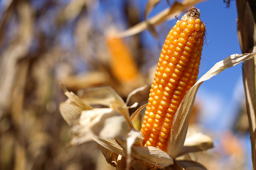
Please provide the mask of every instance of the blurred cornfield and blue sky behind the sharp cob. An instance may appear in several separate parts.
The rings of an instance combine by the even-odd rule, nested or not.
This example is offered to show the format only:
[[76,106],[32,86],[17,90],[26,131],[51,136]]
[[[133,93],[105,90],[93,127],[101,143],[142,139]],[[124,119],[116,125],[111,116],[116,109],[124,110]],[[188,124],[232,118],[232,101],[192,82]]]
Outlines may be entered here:
[[[145,8],[146,1],[136,0],[0,1],[0,169],[113,169],[94,142],[68,147],[70,127],[59,112],[60,103],[66,100],[60,85],[74,93],[111,86],[126,100],[129,92],[146,84],[147,88],[132,96],[128,105],[147,103],[161,45],[176,22],[173,15],[179,18],[186,10],[179,4],[199,8],[202,20],[208,22],[207,33],[214,34],[206,36],[209,42],[203,47],[199,77],[228,55],[255,52],[255,3],[215,1],[167,0],[155,3],[152,9]],[[212,4],[218,9],[212,9]],[[236,30],[236,5],[241,50],[237,34],[229,34],[229,29]],[[176,13],[156,18],[154,24],[145,27],[137,25],[165,8]],[[219,9],[226,11],[225,15]],[[216,13],[212,13],[214,10]],[[134,29],[129,29],[132,26]],[[113,35],[123,38],[111,39]],[[214,36],[216,43],[211,41]],[[253,68],[248,70],[255,76],[253,60],[245,62],[244,68]],[[215,142],[215,149],[198,154],[199,162],[210,170],[252,169],[241,65],[205,83],[202,89],[207,88],[227,94],[208,96],[212,98],[207,101],[218,101],[210,105],[204,101],[205,91],[198,92],[190,125],[210,134]],[[255,88],[249,94],[255,97]],[[214,114],[212,108],[223,107],[223,101],[233,108],[223,108],[223,115],[216,113],[217,118],[207,115]],[[216,122],[209,124],[212,118]]]

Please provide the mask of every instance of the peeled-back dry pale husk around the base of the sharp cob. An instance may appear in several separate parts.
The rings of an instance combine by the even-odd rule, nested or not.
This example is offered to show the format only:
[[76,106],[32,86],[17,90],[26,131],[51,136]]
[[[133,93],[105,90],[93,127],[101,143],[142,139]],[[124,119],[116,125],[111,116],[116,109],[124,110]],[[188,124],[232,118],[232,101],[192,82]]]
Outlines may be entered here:
[[[82,96],[85,98],[83,101],[77,97],[79,99],[77,101],[78,103],[93,101],[94,104],[97,102],[101,104],[104,103],[110,108],[94,108],[81,111],[79,121],[71,130],[73,134],[71,144],[82,144],[94,140],[100,145],[100,149],[107,162],[116,166],[117,169],[124,167],[131,169],[135,168],[136,164],[138,164],[138,167],[141,169],[164,168],[177,170],[185,168],[186,170],[204,170],[206,169],[204,166],[192,161],[191,152],[200,152],[210,149],[213,147],[213,141],[210,137],[202,133],[187,135],[189,118],[196,92],[203,81],[219,74],[226,68],[251,59],[254,55],[256,55],[256,53],[228,56],[225,60],[216,63],[211,70],[204,74],[187,92],[174,118],[167,153],[152,146],[142,146],[142,134],[130,125],[131,120],[130,117],[127,116],[127,105],[121,100],[118,94],[109,87],[93,88],[87,90],[87,92],[86,90],[83,91]],[[138,90],[143,89],[144,88],[140,88]],[[136,93],[138,90],[135,90],[132,94]],[[88,98],[86,99],[86,97]],[[94,97],[95,100],[93,100]],[[141,110],[141,108],[138,110]],[[137,113],[138,112],[139,111],[137,111]],[[182,157],[183,155],[184,157]],[[191,158],[187,159],[189,157]],[[194,155],[194,158],[196,158],[196,155]]]

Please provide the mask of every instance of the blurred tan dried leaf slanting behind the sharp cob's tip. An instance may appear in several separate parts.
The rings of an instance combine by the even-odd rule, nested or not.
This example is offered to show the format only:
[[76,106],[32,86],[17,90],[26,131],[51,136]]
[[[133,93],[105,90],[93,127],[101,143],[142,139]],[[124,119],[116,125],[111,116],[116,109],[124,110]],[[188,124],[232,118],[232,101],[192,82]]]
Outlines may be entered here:
[[121,33],[116,34],[116,36],[127,37],[127,36],[140,33],[148,27],[147,23],[150,23],[151,25],[161,24],[164,21],[175,18],[176,15],[180,15],[183,11],[185,11],[190,6],[193,6],[202,1],[205,1],[205,0],[183,0],[182,2],[174,1],[171,8],[166,8],[163,11],[159,12],[154,17],[148,19],[147,20],[148,22],[142,21],[136,24],[135,26],[130,27],[128,30],[125,30]]

